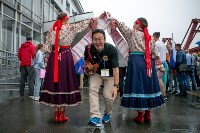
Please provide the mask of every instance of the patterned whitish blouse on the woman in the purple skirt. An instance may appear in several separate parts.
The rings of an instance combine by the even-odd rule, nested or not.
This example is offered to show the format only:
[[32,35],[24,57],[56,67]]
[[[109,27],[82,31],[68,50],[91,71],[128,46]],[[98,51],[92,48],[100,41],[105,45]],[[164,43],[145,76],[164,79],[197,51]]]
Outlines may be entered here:
[[[70,46],[74,37],[79,33],[89,27],[90,20],[83,20],[78,23],[71,23],[62,25],[62,29],[59,33],[58,45]],[[46,36],[46,43],[44,44],[44,50],[51,52],[52,45],[55,44],[55,34],[56,31],[52,28],[48,31]]]

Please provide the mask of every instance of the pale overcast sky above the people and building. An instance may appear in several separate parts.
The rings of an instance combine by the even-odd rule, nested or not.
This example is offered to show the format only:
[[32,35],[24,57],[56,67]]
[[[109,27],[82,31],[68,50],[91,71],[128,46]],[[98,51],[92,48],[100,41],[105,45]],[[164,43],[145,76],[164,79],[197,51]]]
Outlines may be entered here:
[[[99,16],[108,11],[119,21],[133,26],[138,17],[145,17],[149,23],[149,33],[160,31],[161,38],[174,34],[176,43],[181,43],[194,18],[200,19],[200,0],[80,0],[85,12],[93,11]],[[200,25],[200,24],[199,24]],[[200,40],[197,33],[191,47]],[[112,42],[107,37],[108,42]]]

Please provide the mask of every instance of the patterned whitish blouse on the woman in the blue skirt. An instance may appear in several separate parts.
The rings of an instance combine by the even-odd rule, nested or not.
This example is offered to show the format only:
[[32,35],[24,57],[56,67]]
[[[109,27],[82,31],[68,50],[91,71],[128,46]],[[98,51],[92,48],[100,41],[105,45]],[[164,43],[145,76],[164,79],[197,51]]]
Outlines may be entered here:
[[[145,38],[144,32],[131,29],[127,27],[123,22],[118,23],[118,29],[123,37],[126,39],[130,52],[144,52],[145,53]],[[150,41],[151,55],[158,56],[158,50],[155,45],[155,41]]]

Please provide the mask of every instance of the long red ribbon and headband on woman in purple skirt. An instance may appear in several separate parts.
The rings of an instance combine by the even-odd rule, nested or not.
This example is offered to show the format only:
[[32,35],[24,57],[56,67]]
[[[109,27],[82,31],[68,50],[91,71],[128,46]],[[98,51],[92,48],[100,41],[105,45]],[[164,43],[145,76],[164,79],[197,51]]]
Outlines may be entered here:
[[55,53],[54,53],[54,82],[58,82],[58,41],[59,41],[59,33],[62,28],[62,21],[67,20],[68,16],[64,16],[61,19],[57,20],[52,28],[56,30],[56,38],[55,38]]

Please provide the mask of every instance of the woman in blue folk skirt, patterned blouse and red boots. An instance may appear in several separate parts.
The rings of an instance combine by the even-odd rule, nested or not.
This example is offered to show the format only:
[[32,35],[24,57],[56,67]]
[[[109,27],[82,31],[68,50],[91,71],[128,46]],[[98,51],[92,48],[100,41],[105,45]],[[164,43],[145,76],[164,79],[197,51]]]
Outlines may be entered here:
[[162,106],[164,99],[152,59],[158,54],[155,42],[148,33],[147,20],[138,18],[134,22],[133,29],[117,20],[112,20],[112,23],[118,27],[130,50],[121,106],[138,110],[138,116],[133,119],[135,122],[150,122],[151,109]]

